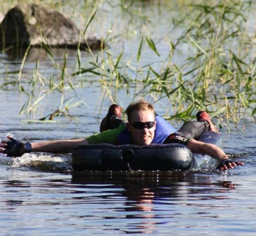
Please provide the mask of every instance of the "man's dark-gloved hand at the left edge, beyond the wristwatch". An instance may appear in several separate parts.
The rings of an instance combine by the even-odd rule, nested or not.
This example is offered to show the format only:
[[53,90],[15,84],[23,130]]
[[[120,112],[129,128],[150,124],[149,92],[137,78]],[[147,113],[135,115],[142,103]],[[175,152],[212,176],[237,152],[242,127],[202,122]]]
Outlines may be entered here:
[[17,139],[7,136],[9,141],[1,141],[0,153],[7,154],[7,157],[21,157],[25,154],[23,143]]

